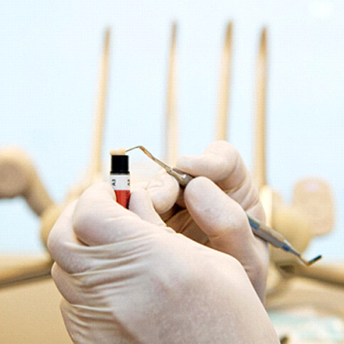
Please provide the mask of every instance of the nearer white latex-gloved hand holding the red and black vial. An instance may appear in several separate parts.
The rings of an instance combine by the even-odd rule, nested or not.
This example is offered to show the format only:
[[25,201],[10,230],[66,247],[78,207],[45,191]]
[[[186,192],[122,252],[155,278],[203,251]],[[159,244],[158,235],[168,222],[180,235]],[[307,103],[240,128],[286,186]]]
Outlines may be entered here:
[[242,265],[166,227],[146,190],[127,210],[91,186],[48,249],[75,343],[279,343]]

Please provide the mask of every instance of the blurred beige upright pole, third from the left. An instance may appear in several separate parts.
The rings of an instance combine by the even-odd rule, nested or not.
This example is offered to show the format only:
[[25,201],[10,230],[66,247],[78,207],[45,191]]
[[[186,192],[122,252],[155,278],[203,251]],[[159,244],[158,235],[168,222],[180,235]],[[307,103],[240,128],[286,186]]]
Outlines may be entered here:
[[230,92],[230,73],[232,64],[232,23],[227,24],[225,44],[222,49],[220,65],[220,86],[217,104],[216,140],[227,141],[228,102]]

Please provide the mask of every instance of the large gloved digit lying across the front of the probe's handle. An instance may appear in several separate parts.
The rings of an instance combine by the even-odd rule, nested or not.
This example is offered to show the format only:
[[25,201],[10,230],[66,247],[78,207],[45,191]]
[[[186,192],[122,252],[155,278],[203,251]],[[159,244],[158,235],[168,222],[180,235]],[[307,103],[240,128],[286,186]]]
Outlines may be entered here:
[[242,207],[205,177],[193,179],[184,191],[193,220],[208,235],[211,247],[252,264],[259,252]]

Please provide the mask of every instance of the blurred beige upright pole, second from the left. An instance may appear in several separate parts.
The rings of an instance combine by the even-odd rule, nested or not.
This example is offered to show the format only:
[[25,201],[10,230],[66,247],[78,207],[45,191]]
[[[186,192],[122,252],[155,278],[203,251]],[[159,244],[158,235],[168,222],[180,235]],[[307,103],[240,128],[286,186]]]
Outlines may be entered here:
[[176,36],[177,24],[172,24],[170,55],[168,59],[166,109],[166,162],[175,165],[178,156],[177,95],[176,95]]

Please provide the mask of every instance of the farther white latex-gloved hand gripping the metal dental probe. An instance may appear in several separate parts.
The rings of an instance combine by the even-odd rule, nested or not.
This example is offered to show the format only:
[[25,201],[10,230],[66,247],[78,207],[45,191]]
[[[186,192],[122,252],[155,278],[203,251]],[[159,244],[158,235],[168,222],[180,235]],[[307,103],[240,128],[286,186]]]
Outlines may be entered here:
[[238,259],[264,301],[269,250],[252,234],[244,211],[262,221],[265,216],[242,158],[233,146],[217,141],[200,156],[183,156],[176,167],[209,179],[195,178],[183,191],[166,172],[156,176],[147,190],[157,212],[176,232]]

